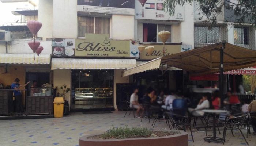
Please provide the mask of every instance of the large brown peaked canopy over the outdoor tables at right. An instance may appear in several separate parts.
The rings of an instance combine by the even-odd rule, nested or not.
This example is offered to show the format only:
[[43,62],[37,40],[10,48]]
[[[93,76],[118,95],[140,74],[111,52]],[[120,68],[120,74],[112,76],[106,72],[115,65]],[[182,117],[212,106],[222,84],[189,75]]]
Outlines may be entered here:
[[[193,75],[219,72],[220,48],[222,43],[205,46],[162,57],[161,63],[191,72]],[[230,43],[225,44],[224,71],[252,67],[256,65],[256,51]]]

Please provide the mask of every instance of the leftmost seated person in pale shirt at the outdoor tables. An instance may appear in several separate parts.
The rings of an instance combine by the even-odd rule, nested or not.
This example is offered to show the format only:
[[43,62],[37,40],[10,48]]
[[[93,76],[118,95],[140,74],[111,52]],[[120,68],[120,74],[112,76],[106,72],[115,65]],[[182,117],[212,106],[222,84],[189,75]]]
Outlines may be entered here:
[[138,92],[139,89],[135,88],[131,97],[130,97],[130,107],[136,109],[136,117],[140,117],[140,115],[143,115],[144,109],[138,102]]

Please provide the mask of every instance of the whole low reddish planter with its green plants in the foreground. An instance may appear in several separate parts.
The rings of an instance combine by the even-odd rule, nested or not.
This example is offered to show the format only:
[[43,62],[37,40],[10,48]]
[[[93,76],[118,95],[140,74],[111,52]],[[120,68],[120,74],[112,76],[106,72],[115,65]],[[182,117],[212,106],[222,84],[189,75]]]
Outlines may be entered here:
[[103,134],[79,138],[79,146],[188,146],[183,131],[152,131],[141,127],[112,128]]

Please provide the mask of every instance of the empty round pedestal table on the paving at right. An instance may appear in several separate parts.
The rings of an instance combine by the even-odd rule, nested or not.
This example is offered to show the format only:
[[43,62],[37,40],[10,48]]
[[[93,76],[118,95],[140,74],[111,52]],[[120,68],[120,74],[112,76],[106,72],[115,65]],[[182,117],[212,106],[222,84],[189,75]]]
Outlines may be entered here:
[[226,113],[224,110],[202,110],[203,112],[210,113],[213,115],[213,137],[205,137],[204,140],[208,142],[220,142],[223,143],[223,138],[216,137],[216,114]]

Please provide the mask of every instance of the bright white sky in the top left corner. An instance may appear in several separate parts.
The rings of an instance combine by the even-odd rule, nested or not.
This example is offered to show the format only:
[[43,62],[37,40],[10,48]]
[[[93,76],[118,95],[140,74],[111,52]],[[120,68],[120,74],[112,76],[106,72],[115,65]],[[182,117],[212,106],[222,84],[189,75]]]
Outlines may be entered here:
[[[38,3],[38,0],[35,0]],[[2,23],[9,23],[9,22],[16,22],[20,17],[13,15],[11,12],[16,10],[16,8],[26,8],[31,7],[32,5],[28,6],[26,2],[19,2],[19,3],[2,3],[0,2],[0,26]]]

